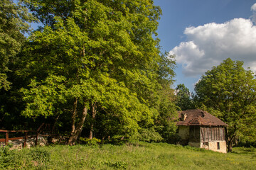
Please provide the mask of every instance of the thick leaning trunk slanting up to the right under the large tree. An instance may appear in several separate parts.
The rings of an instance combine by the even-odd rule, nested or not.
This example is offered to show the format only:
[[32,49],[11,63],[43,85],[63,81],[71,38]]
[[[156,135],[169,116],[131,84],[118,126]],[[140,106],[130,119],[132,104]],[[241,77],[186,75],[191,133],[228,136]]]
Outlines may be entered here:
[[79,123],[76,126],[75,131],[73,132],[73,134],[70,135],[70,138],[68,140],[68,145],[70,145],[70,146],[75,145],[75,142],[78,140],[78,136],[82,132],[82,126],[85,123],[85,118],[86,118],[86,115],[87,115],[87,111],[88,111],[87,107],[83,108],[82,115],[81,115],[81,118],[79,120]]

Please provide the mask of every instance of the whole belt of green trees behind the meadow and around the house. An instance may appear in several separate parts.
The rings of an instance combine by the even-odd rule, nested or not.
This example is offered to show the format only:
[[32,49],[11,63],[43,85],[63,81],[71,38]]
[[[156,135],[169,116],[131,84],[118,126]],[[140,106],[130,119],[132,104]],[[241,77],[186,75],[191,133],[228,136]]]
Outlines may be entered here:
[[229,150],[253,144],[255,74],[227,59],[201,77],[195,94],[174,89],[175,56],[159,50],[154,1],[15,3],[0,2],[1,129],[46,123],[68,145],[79,137],[175,142],[177,111],[202,108],[228,123]]

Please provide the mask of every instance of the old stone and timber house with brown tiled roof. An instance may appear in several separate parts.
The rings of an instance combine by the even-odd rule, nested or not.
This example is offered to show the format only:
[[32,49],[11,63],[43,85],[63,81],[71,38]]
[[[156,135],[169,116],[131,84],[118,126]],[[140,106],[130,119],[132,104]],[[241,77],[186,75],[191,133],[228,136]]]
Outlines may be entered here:
[[227,124],[199,109],[178,112],[178,135],[181,145],[227,152],[225,127]]

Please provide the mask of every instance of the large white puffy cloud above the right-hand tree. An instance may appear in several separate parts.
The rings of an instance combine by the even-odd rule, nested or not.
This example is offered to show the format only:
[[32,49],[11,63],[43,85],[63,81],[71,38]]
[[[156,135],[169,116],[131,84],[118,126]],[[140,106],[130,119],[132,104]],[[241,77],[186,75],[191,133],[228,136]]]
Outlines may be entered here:
[[[252,6],[256,12],[256,4]],[[256,72],[256,26],[251,19],[235,18],[225,23],[207,23],[184,31],[188,41],[169,54],[176,55],[183,74],[196,77],[230,57],[242,60]]]

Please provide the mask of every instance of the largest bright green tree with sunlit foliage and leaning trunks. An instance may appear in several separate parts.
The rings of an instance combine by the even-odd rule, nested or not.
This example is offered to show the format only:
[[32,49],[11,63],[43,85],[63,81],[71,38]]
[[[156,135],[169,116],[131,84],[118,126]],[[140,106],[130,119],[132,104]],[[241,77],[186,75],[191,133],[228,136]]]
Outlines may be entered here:
[[70,145],[82,131],[87,113],[92,119],[90,137],[99,111],[101,120],[118,121],[119,135],[154,125],[164,59],[159,40],[152,38],[161,14],[153,1],[26,3],[44,26],[31,35],[22,54],[23,69],[17,72],[31,79],[21,90],[27,102],[23,115],[69,113]]

